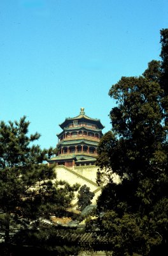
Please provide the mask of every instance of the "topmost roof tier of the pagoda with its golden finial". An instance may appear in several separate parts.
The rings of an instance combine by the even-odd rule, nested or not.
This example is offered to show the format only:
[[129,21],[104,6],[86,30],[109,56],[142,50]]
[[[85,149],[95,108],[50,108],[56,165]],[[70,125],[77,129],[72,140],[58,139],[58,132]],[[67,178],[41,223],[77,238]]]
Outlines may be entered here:
[[66,120],[62,123],[62,124],[59,124],[59,126],[64,129],[67,124],[71,123],[72,121],[77,121],[77,120],[81,120],[81,121],[87,121],[87,122],[90,122],[92,124],[96,124],[97,127],[99,127],[99,129],[103,129],[104,128],[104,125],[101,124],[101,121],[100,119],[97,119],[97,118],[90,118],[89,116],[85,115],[85,111],[84,111],[84,108],[81,108],[81,111],[80,111],[80,115],[78,116],[74,116],[74,117],[68,117],[66,118]]

